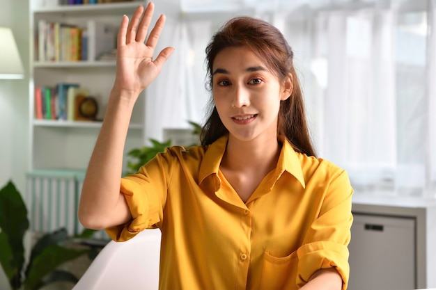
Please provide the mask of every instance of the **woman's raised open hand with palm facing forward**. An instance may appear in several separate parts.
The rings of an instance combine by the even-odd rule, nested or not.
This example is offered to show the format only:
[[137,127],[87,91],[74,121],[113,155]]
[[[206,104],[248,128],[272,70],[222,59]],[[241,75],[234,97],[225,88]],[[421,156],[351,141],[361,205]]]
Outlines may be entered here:
[[119,94],[127,92],[137,97],[155,79],[162,65],[174,51],[172,47],[166,47],[153,60],[157,40],[165,23],[165,15],[160,15],[147,38],[153,10],[154,4],[150,2],[145,11],[143,6],[137,8],[130,23],[129,18],[123,16],[117,38],[114,83],[114,90]]

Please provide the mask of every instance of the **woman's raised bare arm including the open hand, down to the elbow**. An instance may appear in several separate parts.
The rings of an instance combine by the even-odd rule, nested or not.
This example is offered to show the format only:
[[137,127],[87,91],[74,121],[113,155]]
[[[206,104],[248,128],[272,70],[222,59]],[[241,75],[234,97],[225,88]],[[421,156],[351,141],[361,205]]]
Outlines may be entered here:
[[78,216],[84,227],[102,229],[132,219],[125,198],[120,193],[125,138],[139,94],[155,79],[173,52],[173,48],[166,47],[153,61],[154,49],[164,27],[164,15],[157,19],[144,44],[153,10],[151,2],[145,12],[143,6],[139,6],[130,23],[124,15],[120,24],[116,79],[79,202]]

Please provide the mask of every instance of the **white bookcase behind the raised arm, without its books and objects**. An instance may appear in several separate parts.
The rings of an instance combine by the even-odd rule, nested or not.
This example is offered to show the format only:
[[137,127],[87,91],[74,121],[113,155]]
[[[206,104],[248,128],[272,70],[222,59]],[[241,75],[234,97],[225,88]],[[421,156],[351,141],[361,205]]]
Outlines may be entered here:
[[[29,86],[29,120],[32,170],[86,170],[95,140],[104,118],[107,99],[114,83],[115,61],[39,61],[38,22],[62,22],[86,27],[89,19],[111,24],[114,40],[123,15],[132,16],[146,1],[124,1],[93,5],[64,5],[57,0],[36,0],[30,3],[31,77]],[[93,35],[88,35],[92,38]],[[89,39],[88,39],[89,42]],[[115,45],[115,44],[114,44]],[[35,88],[57,83],[79,83],[88,88],[98,101],[99,121],[40,120],[35,112]],[[145,92],[143,93],[145,95]],[[144,141],[145,96],[138,99],[127,134],[125,154]]]

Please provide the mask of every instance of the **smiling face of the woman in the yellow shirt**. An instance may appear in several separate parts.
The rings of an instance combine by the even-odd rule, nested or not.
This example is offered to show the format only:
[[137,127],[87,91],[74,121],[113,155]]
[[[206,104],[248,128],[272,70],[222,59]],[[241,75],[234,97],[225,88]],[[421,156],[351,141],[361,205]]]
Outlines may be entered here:
[[280,102],[292,92],[248,47],[227,47],[212,65],[212,94],[229,138],[277,139]]

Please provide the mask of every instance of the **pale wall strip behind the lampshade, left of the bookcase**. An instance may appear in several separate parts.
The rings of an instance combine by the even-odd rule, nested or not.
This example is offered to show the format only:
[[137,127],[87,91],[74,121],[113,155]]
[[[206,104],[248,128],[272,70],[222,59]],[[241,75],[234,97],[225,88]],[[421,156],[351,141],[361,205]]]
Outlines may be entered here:
[[26,78],[0,80],[0,187],[26,189],[29,164],[29,0],[0,0],[0,26],[13,30]]

